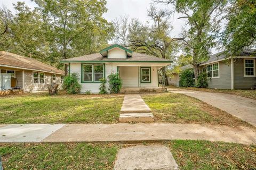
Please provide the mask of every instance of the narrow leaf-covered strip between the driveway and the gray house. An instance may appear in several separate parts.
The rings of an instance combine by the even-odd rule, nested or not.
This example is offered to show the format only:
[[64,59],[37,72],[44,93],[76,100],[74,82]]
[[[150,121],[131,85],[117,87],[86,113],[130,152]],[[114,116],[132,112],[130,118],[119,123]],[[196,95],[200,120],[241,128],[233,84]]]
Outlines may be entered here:
[[[169,88],[178,88],[175,86],[169,86]],[[247,97],[250,99],[256,100],[256,90],[226,90],[226,89],[206,89],[206,88],[196,88],[196,87],[179,87],[186,90],[196,90],[196,91],[205,91],[205,92],[221,92],[223,94],[231,94],[242,97]]]

